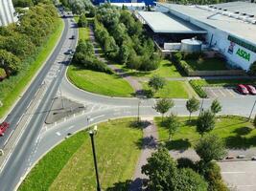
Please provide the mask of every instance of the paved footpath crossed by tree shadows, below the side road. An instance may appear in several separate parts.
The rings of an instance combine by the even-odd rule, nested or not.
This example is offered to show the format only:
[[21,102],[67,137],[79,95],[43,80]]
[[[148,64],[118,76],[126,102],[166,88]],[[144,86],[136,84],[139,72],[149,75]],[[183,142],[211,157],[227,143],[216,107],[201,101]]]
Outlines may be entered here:
[[142,118],[146,121],[146,127],[143,129],[143,143],[142,143],[142,153],[138,159],[137,167],[135,169],[132,182],[129,187],[129,191],[139,191],[143,188],[143,180],[147,179],[147,176],[141,173],[141,167],[147,163],[147,159],[151,157],[151,154],[155,151],[157,147],[157,129],[153,124],[152,117]]

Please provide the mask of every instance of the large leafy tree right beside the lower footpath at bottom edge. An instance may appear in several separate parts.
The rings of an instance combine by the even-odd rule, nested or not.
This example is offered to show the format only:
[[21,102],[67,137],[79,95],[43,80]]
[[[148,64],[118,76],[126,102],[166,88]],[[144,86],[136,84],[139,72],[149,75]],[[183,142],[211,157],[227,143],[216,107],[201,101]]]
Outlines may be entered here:
[[175,187],[176,162],[166,148],[158,149],[147,161],[141,172],[149,177],[150,190],[164,191]]

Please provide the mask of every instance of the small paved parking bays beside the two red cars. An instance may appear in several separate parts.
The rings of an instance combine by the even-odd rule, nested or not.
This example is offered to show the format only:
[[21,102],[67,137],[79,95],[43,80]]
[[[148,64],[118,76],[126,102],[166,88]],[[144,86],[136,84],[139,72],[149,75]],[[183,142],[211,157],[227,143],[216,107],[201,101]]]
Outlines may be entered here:
[[[242,95],[234,87],[204,87],[204,91],[210,98],[217,97],[246,97],[252,95]],[[255,96],[256,97],[256,96]]]

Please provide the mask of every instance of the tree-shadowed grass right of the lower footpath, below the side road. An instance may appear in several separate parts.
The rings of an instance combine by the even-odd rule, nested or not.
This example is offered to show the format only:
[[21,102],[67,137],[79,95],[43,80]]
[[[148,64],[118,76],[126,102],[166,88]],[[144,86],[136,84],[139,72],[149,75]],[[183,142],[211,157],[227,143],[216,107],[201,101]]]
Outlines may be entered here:
[[[161,125],[161,117],[154,119],[158,127],[159,139],[165,141],[170,150],[187,149],[194,146],[200,138],[196,131],[196,117],[193,117],[191,122],[188,121],[188,117],[179,117],[179,119],[181,127],[172,140],[168,140],[168,130]],[[256,129],[244,117],[219,117],[210,134],[223,138],[227,148],[230,149],[246,149],[256,146]]]

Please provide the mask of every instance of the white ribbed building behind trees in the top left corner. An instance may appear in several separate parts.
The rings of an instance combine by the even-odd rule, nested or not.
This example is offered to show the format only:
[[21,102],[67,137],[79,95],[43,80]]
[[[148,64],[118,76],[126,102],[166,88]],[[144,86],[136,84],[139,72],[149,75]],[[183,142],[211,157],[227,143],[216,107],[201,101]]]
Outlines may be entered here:
[[0,26],[7,26],[17,21],[14,16],[12,0],[0,0]]

